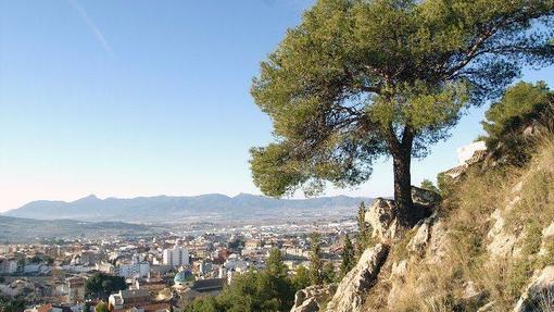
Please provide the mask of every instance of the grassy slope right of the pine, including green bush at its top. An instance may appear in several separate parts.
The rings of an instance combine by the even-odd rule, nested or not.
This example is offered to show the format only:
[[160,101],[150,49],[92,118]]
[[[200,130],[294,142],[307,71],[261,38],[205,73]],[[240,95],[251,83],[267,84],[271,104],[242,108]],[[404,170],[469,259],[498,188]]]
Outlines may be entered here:
[[367,311],[554,311],[553,98],[520,83],[491,107],[489,157],[391,244]]

